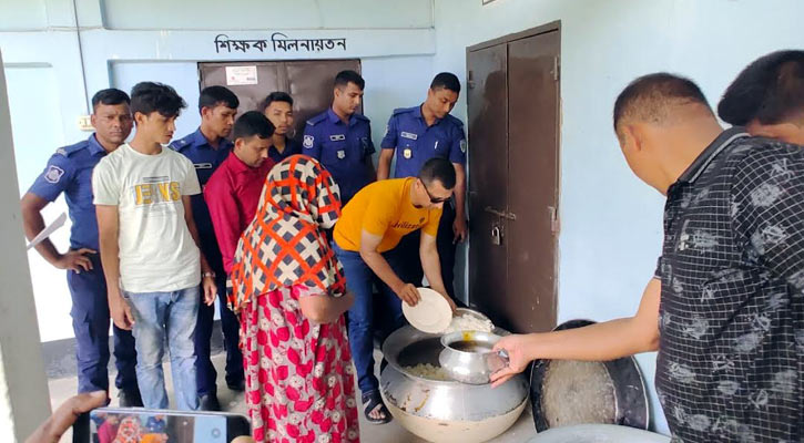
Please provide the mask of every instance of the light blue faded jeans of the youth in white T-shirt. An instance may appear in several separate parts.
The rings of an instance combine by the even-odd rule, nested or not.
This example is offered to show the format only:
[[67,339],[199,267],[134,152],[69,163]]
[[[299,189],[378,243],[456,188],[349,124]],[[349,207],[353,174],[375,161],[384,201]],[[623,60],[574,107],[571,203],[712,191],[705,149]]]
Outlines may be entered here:
[[123,297],[134,315],[136,380],[145,408],[167,409],[162,370],[166,332],[176,405],[181,410],[199,409],[193,347],[201,302],[199,287],[172,292],[123,292]]

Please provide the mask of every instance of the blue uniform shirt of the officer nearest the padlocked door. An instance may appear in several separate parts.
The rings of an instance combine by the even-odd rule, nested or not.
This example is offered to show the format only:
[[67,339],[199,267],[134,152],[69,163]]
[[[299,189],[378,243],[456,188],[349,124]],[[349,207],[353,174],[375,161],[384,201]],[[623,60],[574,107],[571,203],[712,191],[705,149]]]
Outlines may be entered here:
[[417,176],[421,166],[432,157],[466,164],[464,122],[447,114],[427,126],[420,105],[394,111],[380,147],[396,148],[394,176],[397,178]]

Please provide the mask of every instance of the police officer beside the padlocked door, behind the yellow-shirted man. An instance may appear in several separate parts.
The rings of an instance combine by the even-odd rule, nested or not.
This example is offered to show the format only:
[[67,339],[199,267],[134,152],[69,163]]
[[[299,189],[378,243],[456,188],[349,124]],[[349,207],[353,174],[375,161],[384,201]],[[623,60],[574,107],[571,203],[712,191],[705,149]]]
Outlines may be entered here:
[[[377,179],[388,178],[390,164],[396,154],[394,177],[416,177],[428,159],[442,157],[455,166],[455,199],[444,205],[444,214],[438,228],[438,256],[441,262],[441,277],[447,292],[455,297],[455,248],[467,236],[466,219],[466,135],[464,123],[449,114],[458,101],[460,82],[449,72],[436,75],[427,91],[424,103],[414,107],[394,111],[380,144]],[[414,233],[403,237],[398,246],[409,264],[410,280],[420,282],[424,272],[419,257],[419,235]]]

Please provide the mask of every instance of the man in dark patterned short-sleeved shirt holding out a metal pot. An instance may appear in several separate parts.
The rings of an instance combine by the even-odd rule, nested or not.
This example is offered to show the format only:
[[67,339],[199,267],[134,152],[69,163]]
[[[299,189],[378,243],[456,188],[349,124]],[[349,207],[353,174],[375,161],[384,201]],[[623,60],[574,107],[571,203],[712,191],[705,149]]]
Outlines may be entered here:
[[637,79],[614,104],[631,169],[666,195],[659,267],[631,318],[510,336],[510,367],[658,350],[675,442],[804,439],[804,148],[722,131],[700,89]]

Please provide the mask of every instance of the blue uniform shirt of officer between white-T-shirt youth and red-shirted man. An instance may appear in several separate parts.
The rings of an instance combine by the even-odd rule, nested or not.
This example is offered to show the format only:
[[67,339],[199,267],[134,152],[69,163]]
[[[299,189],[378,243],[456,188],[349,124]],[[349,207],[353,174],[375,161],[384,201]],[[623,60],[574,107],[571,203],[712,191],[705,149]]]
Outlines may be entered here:
[[[226,138],[221,138],[217,150],[212,147],[204,134],[199,127],[194,133],[179,138],[170,144],[173,151],[182,153],[190,158],[195,166],[195,174],[199,176],[199,184],[203,190],[206,182],[212,177],[212,173],[226,159],[234,144]],[[193,207],[193,220],[199,229],[200,240],[205,247],[217,249],[217,239],[215,239],[215,230],[212,227],[210,218],[210,209],[204,202],[204,193],[190,197]]]

